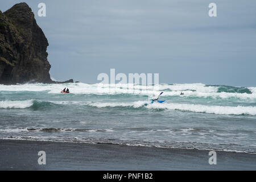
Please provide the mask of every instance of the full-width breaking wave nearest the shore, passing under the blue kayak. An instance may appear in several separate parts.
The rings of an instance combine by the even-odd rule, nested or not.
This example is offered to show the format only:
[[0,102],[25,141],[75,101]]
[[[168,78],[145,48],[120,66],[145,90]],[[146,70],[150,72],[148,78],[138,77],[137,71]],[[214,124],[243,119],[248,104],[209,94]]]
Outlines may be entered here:
[[146,109],[164,109],[164,110],[180,110],[192,111],[195,113],[208,113],[208,114],[226,114],[226,115],[256,115],[255,106],[218,106],[218,105],[200,105],[200,104],[179,104],[168,103],[167,101],[159,104],[150,104],[149,101],[135,101],[135,102],[57,102],[57,101],[39,101],[39,100],[24,100],[24,101],[0,101],[1,109],[24,109],[30,108],[32,110],[45,110],[54,106],[66,104],[79,104],[85,106],[92,106],[97,108],[102,107],[131,107]]

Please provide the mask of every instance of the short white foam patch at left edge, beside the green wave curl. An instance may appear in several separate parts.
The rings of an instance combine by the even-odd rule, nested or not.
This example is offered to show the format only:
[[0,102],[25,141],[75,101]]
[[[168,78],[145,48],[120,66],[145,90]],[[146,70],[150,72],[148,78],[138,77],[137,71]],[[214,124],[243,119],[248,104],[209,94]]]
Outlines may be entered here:
[[24,100],[24,101],[0,101],[0,108],[1,109],[11,109],[11,108],[16,108],[16,109],[24,109],[27,107],[32,106],[33,100]]

